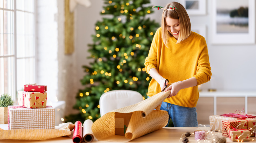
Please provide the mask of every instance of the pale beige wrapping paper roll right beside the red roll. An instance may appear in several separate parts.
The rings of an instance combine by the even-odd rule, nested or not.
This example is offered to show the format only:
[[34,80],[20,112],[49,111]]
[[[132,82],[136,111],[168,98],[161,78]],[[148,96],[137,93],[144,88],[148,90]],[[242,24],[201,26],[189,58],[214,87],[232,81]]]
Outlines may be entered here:
[[93,121],[87,119],[83,124],[83,141],[84,142],[92,142],[94,139],[93,131],[92,131]]

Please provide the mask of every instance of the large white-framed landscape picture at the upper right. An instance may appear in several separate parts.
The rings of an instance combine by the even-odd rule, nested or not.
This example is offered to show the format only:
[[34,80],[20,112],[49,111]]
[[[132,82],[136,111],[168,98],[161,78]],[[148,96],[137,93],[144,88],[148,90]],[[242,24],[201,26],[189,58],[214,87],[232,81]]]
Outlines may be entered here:
[[255,43],[255,0],[212,0],[212,44]]

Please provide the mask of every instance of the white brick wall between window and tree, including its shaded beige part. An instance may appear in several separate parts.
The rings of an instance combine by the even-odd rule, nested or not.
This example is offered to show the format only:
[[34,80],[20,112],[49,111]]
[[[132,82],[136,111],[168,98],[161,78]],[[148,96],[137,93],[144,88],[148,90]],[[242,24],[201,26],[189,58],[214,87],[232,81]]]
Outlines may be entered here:
[[48,105],[66,101],[65,115],[69,115],[76,111],[72,107],[80,83],[76,53],[64,54],[64,0],[38,0],[36,17],[36,83],[47,85]]

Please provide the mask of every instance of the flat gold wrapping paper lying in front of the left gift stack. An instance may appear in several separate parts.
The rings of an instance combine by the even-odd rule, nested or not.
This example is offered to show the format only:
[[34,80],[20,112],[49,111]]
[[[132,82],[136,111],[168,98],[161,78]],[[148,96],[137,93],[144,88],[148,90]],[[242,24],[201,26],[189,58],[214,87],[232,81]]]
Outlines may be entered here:
[[45,140],[65,135],[71,135],[71,131],[55,129],[15,129],[1,130],[1,139],[19,139],[19,140]]

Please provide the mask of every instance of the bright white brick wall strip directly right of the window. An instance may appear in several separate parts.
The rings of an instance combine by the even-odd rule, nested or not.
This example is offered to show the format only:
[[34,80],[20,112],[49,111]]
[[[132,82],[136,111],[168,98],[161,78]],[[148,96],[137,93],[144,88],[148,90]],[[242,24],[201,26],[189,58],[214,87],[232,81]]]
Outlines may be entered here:
[[58,84],[57,1],[38,0],[36,11],[36,83],[47,85],[49,103],[56,100]]

